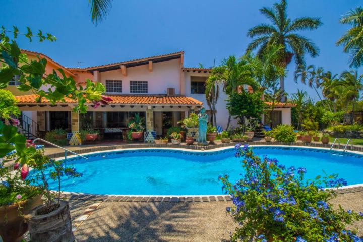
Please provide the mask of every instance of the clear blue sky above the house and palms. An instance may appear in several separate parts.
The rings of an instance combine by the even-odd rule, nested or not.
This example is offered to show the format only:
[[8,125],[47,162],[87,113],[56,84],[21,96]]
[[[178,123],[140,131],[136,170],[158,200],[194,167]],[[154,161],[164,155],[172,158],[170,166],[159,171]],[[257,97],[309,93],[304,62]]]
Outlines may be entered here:
[[[106,19],[94,26],[87,0],[2,0],[0,25],[29,26],[57,37],[55,43],[18,40],[21,48],[42,52],[66,67],[87,67],[170,52],[185,51],[185,66],[220,64],[229,55],[243,55],[251,41],[249,28],[268,20],[259,13],[271,0],[138,0],[113,1]],[[301,32],[320,48],[307,64],[333,73],[348,69],[347,54],[336,47],[336,40],[348,29],[339,18],[363,0],[290,0],[291,18],[321,17],[323,26]],[[294,64],[288,66],[286,90],[305,89],[317,100],[314,90],[293,81]],[[362,73],[362,68],[359,69]]]

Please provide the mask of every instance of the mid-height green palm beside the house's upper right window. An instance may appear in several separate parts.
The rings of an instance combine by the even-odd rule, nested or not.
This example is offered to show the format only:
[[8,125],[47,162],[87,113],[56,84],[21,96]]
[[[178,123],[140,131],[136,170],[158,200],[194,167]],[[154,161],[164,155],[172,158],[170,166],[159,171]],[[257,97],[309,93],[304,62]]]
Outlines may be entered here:
[[[234,55],[223,59],[220,66],[214,67],[209,79],[217,80],[223,85],[223,91],[232,96],[238,92],[241,85],[249,85],[253,90],[257,90],[258,83],[254,79],[253,66],[246,59],[237,59]],[[231,115],[228,117],[226,129],[229,128]]]

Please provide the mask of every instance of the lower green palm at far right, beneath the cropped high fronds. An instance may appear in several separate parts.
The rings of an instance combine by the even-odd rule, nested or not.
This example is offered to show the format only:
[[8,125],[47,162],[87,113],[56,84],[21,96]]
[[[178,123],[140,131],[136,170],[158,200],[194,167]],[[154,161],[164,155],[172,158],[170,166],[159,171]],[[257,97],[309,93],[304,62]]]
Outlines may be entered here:
[[359,76],[357,71],[344,71],[340,75],[340,79],[346,86],[345,97],[352,102],[352,111],[354,111],[355,102],[359,100],[360,92],[363,90],[363,76]]

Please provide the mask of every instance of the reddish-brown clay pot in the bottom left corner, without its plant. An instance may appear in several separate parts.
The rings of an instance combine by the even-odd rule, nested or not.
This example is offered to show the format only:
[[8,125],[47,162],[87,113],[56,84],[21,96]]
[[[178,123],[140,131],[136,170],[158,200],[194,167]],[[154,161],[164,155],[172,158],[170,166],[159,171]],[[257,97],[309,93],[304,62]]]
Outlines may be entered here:
[[21,215],[28,215],[32,209],[42,203],[39,194],[17,204],[0,207],[0,236],[3,241],[21,241],[23,234],[28,231],[28,224]]

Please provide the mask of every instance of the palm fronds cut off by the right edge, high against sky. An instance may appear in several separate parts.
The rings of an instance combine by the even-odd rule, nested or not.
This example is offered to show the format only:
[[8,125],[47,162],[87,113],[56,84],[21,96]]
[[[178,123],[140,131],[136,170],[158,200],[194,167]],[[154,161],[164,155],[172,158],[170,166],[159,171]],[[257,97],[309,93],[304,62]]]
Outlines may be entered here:
[[336,44],[344,46],[345,53],[350,53],[349,66],[358,68],[363,64],[363,8],[350,10],[340,19],[340,23],[350,25],[351,29]]

